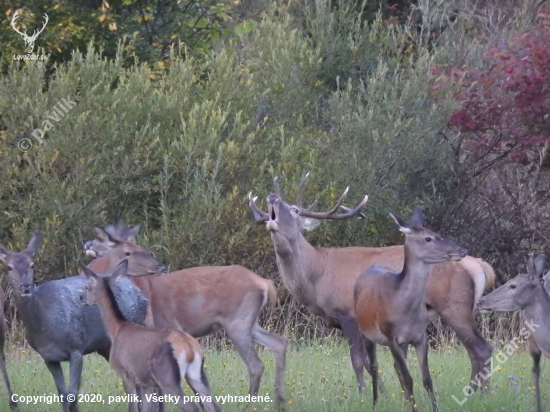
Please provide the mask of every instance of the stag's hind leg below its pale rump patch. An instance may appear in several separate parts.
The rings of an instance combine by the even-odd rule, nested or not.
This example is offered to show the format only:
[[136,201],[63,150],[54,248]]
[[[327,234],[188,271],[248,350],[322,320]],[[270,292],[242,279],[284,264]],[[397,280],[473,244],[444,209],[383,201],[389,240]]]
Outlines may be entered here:
[[[477,330],[469,306],[464,304],[454,305],[452,309],[452,315],[447,313],[447,310],[439,312],[439,315],[455,331],[456,336],[468,351],[468,356],[472,363],[470,379],[474,382],[480,382],[479,386],[481,386],[481,390],[485,393],[489,388],[490,377],[482,372],[483,368],[487,365],[487,361],[491,358],[493,348]],[[477,389],[476,385],[472,385],[472,387],[474,390]]]

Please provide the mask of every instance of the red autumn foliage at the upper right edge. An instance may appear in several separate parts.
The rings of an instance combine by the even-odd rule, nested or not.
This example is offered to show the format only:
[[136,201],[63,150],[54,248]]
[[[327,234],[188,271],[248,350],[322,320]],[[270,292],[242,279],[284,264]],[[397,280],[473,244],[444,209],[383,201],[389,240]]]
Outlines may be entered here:
[[484,63],[483,70],[434,70],[464,76],[451,127],[466,136],[471,151],[520,164],[540,160],[550,146],[550,27],[539,25],[492,47]]

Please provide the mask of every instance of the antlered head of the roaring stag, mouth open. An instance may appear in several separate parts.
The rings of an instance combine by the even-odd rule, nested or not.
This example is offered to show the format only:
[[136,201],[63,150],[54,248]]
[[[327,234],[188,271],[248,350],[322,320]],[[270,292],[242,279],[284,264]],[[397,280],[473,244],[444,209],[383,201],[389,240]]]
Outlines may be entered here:
[[[302,230],[314,230],[323,219],[342,220],[349,219],[355,216],[364,217],[361,209],[367,203],[369,197],[365,196],[363,200],[353,209],[342,206],[349,187],[344,190],[336,204],[327,212],[314,212],[312,209],[316,206],[317,201],[309,207],[304,207],[302,204],[302,196],[306,180],[309,176],[307,173],[302,177],[298,187],[298,195],[294,204],[289,204],[281,198],[279,184],[277,178],[273,181],[274,192],[266,198],[267,212],[261,210],[256,204],[257,197],[252,197],[252,193],[248,195],[248,205],[252,210],[254,219],[257,222],[265,223],[266,228],[273,234],[277,233],[286,238],[295,238]],[[342,208],[344,213],[337,213]]]

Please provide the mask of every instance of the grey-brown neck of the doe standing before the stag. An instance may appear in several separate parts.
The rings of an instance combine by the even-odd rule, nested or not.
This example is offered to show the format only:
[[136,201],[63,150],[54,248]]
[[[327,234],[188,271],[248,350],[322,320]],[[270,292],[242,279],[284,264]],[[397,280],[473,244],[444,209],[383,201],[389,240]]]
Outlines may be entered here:
[[408,308],[424,306],[430,264],[419,259],[405,243],[405,264],[401,272],[400,302]]

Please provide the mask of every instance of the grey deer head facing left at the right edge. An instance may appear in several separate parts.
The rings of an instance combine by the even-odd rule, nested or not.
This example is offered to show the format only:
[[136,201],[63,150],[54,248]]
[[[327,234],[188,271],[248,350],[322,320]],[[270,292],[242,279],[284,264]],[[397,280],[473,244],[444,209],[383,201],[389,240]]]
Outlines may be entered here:
[[[520,273],[498,289],[481,298],[478,307],[483,312],[510,312],[525,309],[543,289],[540,277],[546,263],[545,255],[529,256],[527,273]],[[544,293],[546,293],[543,290]]]

